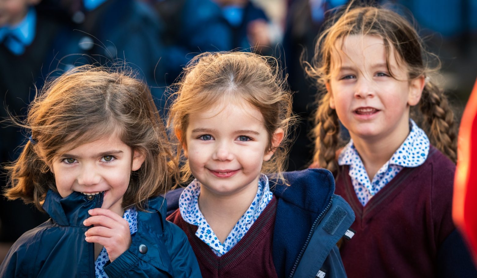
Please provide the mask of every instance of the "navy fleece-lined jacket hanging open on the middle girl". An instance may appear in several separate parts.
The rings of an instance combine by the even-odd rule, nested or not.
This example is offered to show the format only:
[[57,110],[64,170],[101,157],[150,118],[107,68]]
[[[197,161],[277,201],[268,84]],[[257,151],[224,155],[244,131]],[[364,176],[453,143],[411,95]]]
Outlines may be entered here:
[[[332,173],[306,169],[283,174],[290,186],[270,177],[278,200],[272,251],[278,277],[346,278],[336,243],[351,227],[354,212],[333,194]],[[166,194],[168,214],[178,208],[182,190]]]

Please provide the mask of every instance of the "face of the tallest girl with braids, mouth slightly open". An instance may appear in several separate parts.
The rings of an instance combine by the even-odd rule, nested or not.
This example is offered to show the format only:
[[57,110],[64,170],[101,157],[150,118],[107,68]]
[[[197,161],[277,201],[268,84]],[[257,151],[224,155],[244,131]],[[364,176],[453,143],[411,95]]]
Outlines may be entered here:
[[424,78],[409,81],[407,68],[404,62],[397,63],[394,48],[389,66],[396,79],[391,77],[380,37],[350,35],[338,41],[336,48],[327,84],[330,107],[336,109],[353,140],[407,136],[409,106],[418,103]]

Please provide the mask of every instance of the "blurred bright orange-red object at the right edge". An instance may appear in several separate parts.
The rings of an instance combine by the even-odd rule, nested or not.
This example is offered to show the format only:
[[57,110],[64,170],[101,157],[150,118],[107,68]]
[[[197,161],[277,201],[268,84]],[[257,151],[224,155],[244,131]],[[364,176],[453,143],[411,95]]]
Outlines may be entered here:
[[459,128],[452,217],[477,265],[477,81]]

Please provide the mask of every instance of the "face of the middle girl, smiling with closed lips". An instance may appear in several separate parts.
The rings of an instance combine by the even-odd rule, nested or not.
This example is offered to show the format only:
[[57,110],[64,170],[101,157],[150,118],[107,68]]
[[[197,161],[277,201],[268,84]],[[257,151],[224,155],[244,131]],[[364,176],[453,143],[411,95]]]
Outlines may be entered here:
[[261,113],[232,103],[217,111],[213,107],[189,115],[184,152],[192,174],[201,190],[213,195],[257,187],[262,163],[273,155]]

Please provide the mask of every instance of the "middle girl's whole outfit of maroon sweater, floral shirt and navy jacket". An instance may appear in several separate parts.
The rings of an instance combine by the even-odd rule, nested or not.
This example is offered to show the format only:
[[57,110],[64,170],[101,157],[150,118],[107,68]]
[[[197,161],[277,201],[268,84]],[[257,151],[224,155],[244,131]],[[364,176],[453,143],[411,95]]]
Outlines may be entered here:
[[[250,213],[246,212],[240,218],[229,237],[236,237],[236,228],[243,228],[238,226],[247,226],[247,221],[241,221],[244,217],[250,215],[253,223],[243,228],[246,233],[231,247],[227,240],[221,243],[212,242],[215,237],[204,239],[210,235],[207,223],[205,229],[200,220],[189,223],[191,215],[201,219],[197,209],[188,213],[176,209],[167,218],[186,232],[204,277],[314,278],[325,273],[325,277],[346,277],[336,242],[347,232],[354,214],[341,197],[333,194],[332,174],[325,169],[307,169],[284,175],[290,186],[282,182],[264,182],[262,176],[257,193],[260,197],[256,196],[252,201],[247,210]],[[184,198],[177,198],[181,190],[166,194],[171,207],[190,198],[185,190],[181,193]],[[190,198],[192,202],[196,202],[196,196]],[[267,202],[262,210],[255,208],[264,203],[260,200]],[[259,215],[257,211],[260,211]]]

